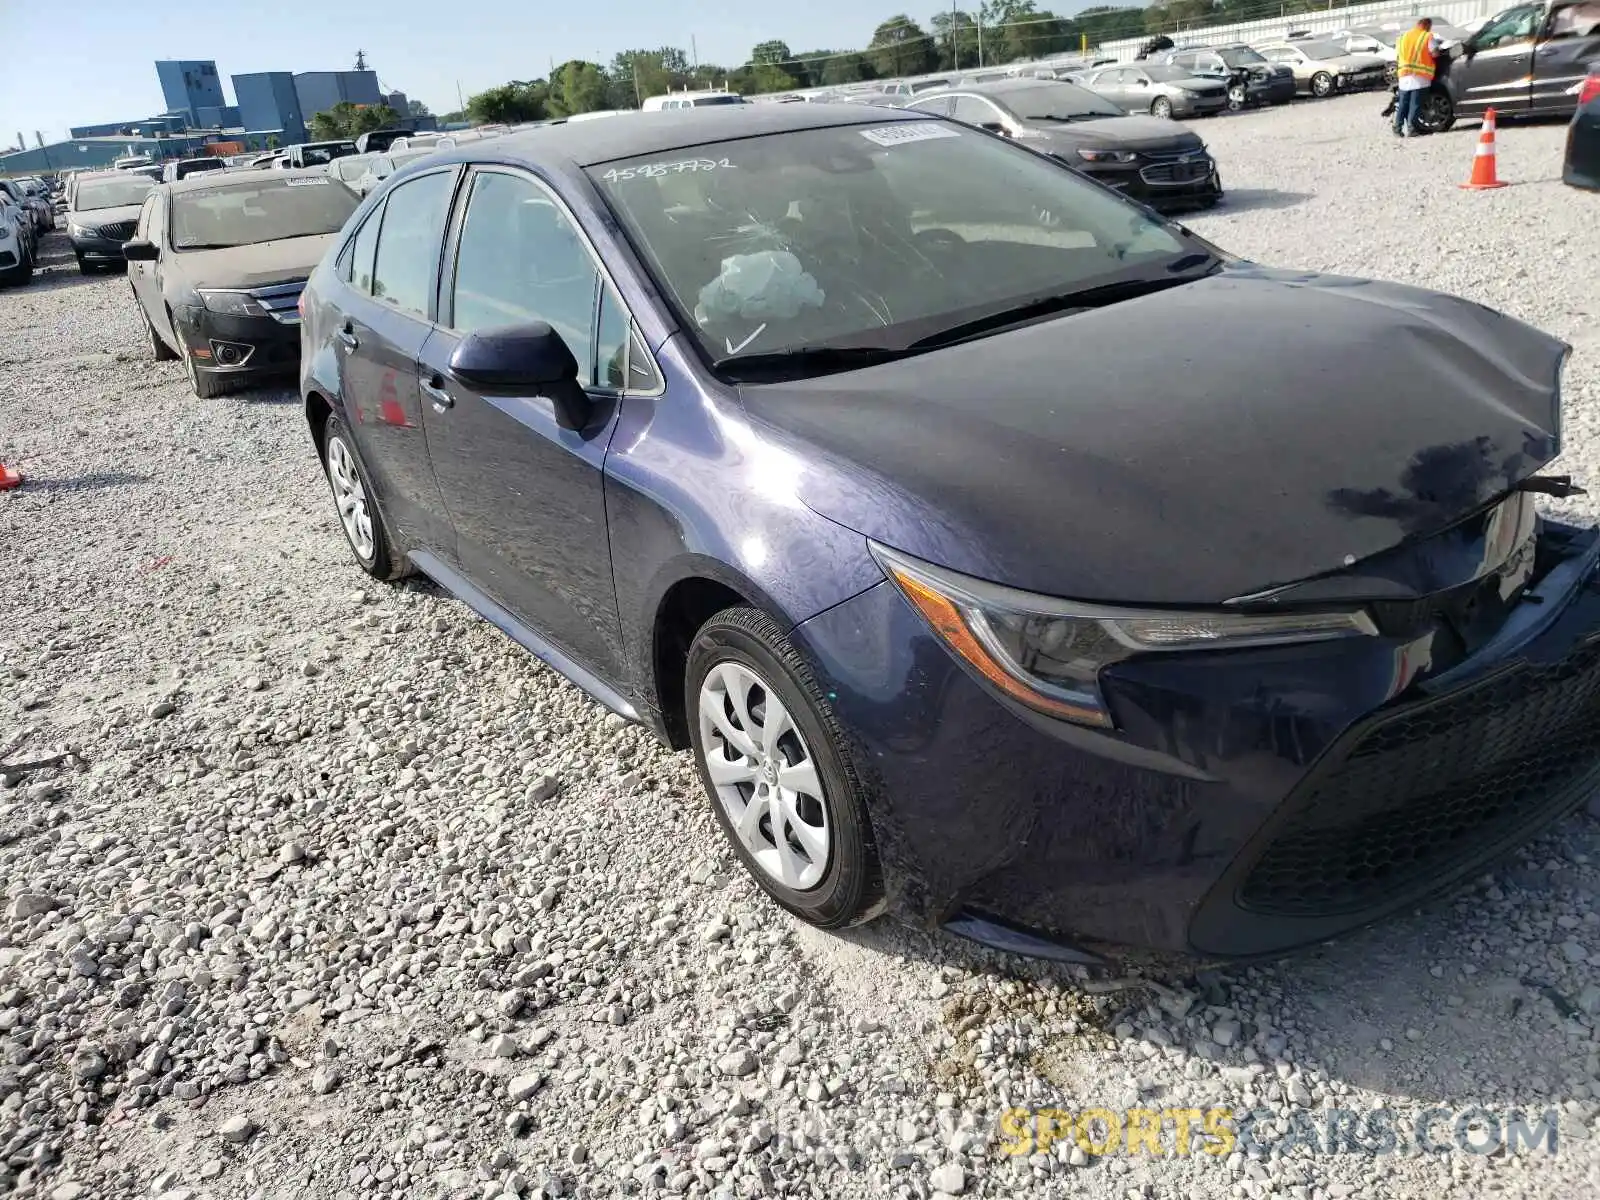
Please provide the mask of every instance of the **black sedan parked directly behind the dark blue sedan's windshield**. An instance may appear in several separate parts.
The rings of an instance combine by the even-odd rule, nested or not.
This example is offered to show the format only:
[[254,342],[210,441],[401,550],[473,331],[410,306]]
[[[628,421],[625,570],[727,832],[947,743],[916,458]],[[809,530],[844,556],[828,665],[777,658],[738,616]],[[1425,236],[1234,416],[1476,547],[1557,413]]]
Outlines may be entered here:
[[1077,83],[973,83],[906,107],[1013,138],[1152,208],[1210,208],[1222,197],[1222,176],[1200,134],[1160,117],[1130,115]]

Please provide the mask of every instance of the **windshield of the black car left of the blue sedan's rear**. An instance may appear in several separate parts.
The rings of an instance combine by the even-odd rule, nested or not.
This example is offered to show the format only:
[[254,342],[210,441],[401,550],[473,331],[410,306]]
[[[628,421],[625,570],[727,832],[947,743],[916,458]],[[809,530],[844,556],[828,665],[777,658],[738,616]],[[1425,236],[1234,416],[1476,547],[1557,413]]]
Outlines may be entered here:
[[262,179],[173,194],[173,250],[226,250],[336,234],[360,203],[326,176]]

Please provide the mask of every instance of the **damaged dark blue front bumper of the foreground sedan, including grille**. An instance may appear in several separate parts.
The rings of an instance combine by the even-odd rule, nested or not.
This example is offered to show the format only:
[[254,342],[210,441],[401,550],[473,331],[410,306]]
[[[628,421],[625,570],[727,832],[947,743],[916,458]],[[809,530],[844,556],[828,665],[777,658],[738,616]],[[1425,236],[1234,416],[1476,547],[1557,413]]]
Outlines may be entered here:
[[1246,958],[1414,906],[1600,782],[1600,533],[1531,547],[1493,632],[1422,597],[1381,637],[1131,659],[1102,675],[1114,733],[997,694],[890,584],[797,638],[902,917],[1069,962]]

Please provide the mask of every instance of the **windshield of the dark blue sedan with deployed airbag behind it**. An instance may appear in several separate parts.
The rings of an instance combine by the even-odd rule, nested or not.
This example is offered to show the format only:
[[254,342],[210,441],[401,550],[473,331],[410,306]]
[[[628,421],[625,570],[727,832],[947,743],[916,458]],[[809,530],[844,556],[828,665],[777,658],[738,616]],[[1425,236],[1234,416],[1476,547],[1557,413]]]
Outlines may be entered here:
[[1059,163],[952,122],[802,130],[589,168],[707,355],[907,349],[1210,262]]

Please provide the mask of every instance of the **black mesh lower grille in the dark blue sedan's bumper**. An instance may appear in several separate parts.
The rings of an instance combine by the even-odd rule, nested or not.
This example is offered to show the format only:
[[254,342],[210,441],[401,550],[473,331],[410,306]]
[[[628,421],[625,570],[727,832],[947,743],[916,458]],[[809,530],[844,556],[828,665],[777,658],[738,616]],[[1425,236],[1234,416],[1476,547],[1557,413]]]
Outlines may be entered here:
[[1600,781],[1600,643],[1365,726],[1307,779],[1238,890],[1304,917],[1374,907],[1571,806]]

